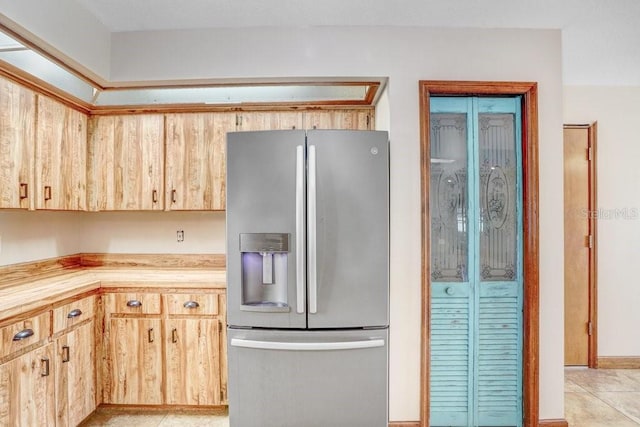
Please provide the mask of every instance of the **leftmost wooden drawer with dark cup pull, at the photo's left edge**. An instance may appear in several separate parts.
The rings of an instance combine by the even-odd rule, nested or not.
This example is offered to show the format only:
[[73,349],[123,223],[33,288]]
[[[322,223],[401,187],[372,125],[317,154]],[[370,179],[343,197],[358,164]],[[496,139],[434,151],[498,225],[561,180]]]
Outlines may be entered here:
[[51,312],[20,320],[0,328],[0,357],[46,339],[51,331]]

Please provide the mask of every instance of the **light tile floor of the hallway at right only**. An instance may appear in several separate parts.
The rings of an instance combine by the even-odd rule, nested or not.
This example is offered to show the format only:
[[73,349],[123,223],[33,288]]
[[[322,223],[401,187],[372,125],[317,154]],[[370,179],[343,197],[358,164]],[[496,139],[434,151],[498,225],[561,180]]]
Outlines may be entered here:
[[565,368],[570,427],[640,426],[640,369]]

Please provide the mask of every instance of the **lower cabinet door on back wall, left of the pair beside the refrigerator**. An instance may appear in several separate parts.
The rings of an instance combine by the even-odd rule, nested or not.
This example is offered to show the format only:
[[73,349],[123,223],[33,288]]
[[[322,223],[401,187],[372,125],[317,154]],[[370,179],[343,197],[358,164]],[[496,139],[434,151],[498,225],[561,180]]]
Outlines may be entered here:
[[160,327],[160,319],[110,319],[104,403],[163,403]]

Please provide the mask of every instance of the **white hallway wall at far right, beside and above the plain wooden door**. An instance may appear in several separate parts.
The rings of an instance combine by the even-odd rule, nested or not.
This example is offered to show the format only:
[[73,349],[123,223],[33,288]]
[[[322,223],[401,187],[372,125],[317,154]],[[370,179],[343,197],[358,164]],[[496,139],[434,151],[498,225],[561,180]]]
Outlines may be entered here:
[[598,122],[598,355],[640,356],[640,87],[568,86],[564,122]]

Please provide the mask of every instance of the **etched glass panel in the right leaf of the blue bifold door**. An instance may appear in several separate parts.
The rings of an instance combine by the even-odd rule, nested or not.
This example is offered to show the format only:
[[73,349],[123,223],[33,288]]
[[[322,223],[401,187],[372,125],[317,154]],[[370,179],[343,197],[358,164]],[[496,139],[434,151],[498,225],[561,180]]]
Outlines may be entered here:
[[516,146],[513,114],[479,114],[480,278],[516,279]]

